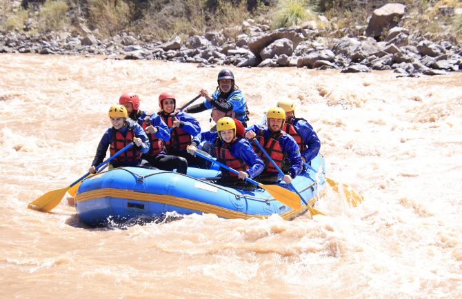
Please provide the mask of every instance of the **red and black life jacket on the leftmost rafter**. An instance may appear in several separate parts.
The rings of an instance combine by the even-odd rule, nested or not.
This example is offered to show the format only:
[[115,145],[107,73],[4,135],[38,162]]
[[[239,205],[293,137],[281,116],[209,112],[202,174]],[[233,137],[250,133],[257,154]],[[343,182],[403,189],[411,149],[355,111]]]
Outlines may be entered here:
[[[123,134],[119,130],[112,129],[112,142],[110,143],[109,152],[111,156],[114,156],[115,153],[119,152],[119,150],[123,149],[125,145],[131,143],[133,141],[134,129],[132,126],[128,127],[127,134],[123,136]],[[119,154],[116,158],[114,158],[114,162],[119,165],[123,165],[127,162],[141,160],[141,151],[137,149],[136,146],[132,146],[127,149],[125,152]]]

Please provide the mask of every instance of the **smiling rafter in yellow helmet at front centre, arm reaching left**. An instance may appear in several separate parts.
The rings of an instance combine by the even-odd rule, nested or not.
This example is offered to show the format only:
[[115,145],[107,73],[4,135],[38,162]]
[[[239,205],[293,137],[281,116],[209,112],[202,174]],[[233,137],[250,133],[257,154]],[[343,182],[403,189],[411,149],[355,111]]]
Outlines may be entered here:
[[222,117],[217,122],[217,132],[202,132],[194,137],[192,144],[188,146],[188,153],[194,155],[197,146],[208,141],[213,144],[214,156],[217,161],[236,169],[239,175],[222,169],[222,177],[217,181],[219,185],[228,187],[245,187],[254,189],[254,185],[247,185],[246,177],[254,178],[263,171],[263,161],[257,156],[250,143],[243,138],[245,128],[235,118]]

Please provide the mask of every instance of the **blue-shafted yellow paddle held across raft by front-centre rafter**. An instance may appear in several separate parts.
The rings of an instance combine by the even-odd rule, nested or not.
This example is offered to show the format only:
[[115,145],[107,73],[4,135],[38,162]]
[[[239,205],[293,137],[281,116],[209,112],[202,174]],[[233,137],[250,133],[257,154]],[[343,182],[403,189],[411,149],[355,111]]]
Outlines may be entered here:
[[[195,154],[196,156],[200,156],[201,158],[204,158],[207,161],[220,165],[224,169],[228,169],[230,172],[234,174],[239,174],[239,172],[236,169],[232,169],[231,167],[228,167],[220,163],[219,161],[215,161],[212,158],[208,158],[208,156],[201,154],[201,152],[196,152]],[[283,187],[278,185],[263,185],[252,180],[252,178],[245,178],[245,181],[248,181],[254,185],[257,185],[265,189],[269,194],[271,194],[272,197],[274,197],[274,199],[279,200],[281,203],[285,205],[288,205],[292,209],[300,209],[300,198],[296,194],[294,194],[294,192],[290,192],[288,189],[284,189]]]

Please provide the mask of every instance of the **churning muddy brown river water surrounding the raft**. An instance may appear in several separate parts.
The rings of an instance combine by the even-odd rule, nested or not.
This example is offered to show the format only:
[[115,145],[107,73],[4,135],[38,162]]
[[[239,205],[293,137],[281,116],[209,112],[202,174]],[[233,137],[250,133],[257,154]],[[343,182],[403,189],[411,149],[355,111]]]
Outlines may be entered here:
[[[65,196],[87,172],[123,91],[158,109],[216,87],[221,68],[92,56],[0,55],[0,298],[461,298],[462,73],[231,68],[250,124],[278,99],[321,139],[330,187],[292,221],[212,214],[123,229],[81,223]],[[208,112],[194,114],[204,130]]]

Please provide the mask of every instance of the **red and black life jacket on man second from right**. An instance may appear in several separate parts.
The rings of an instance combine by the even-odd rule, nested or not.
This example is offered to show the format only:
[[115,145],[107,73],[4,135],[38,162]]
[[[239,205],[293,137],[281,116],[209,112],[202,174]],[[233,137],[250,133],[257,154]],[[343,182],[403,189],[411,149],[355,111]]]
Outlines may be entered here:
[[[265,130],[260,130],[259,134],[255,136],[257,141],[263,146],[265,151],[270,155],[272,160],[278,165],[279,168],[283,168],[286,154],[283,153],[281,144],[279,144],[279,137],[285,134],[285,132],[280,131],[277,133],[271,133],[268,140],[265,141]],[[257,145],[252,145],[254,151],[260,156],[261,160],[265,163],[265,169],[263,172],[278,172],[274,165],[270,162],[270,159],[263,154],[263,152],[257,147]]]

